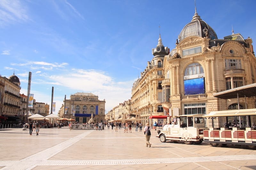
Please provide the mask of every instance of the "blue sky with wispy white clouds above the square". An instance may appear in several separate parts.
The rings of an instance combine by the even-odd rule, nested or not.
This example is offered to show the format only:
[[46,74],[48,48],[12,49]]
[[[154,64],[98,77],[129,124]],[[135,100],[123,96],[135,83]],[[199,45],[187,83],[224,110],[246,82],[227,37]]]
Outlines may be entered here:
[[[196,8],[218,39],[233,26],[256,41],[256,1],[214,2],[197,0]],[[105,99],[107,113],[131,99],[159,31],[163,45],[175,48],[194,13],[194,0],[0,0],[0,74],[8,78],[15,71],[27,95],[31,71],[30,93],[37,102],[50,104],[54,87],[54,114],[65,95],[70,99],[76,92]]]

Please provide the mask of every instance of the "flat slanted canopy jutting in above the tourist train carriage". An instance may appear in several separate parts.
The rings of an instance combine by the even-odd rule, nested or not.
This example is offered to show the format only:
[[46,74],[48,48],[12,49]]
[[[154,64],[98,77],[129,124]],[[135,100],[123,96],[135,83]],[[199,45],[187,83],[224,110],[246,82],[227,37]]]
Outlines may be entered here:
[[256,83],[244,85],[241,87],[225,90],[223,92],[214,93],[214,97],[221,99],[232,99],[238,97],[253,97],[256,96]]

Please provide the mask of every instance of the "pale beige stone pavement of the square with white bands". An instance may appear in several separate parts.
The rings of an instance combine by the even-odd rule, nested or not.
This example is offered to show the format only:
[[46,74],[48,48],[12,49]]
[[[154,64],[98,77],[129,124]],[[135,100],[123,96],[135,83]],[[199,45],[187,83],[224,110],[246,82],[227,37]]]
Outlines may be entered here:
[[245,146],[161,143],[152,130],[0,129],[0,169],[256,169],[256,151]]

